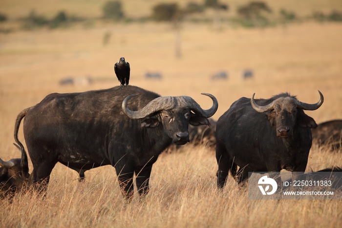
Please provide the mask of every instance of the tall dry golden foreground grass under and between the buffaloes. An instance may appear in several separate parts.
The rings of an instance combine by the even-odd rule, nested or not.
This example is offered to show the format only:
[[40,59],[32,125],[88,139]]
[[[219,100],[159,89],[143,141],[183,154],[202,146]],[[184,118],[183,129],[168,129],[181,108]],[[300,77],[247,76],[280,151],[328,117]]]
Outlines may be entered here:
[[[314,151],[309,163],[340,162],[340,154]],[[324,159],[324,158],[327,158]],[[86,182],[58,165],[45,199],[19,195],[1,201],[3,227],[341,227],[338,200],[249,200],[232,178],[216,189],[214,151],[188,148],[162,154],[151,175],[151,189],[142,202],[128,204],[121,196],[113,168],[86,173]],[[331,164],[331,163],[330,163]],[[325,167],[324,165],[320,165]],[[317,167],[317,166],[316,166]]]

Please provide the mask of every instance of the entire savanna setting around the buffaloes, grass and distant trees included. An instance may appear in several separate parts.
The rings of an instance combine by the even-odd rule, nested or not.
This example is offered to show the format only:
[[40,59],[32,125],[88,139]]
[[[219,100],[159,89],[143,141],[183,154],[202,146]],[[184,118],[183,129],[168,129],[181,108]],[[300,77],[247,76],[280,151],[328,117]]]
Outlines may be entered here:
[[[219,102],[288,91],[317,123],[342,118],[341,0],[0,0],[0,157],[19,158],[14,123],[52,92],[130,85]],[[19,138],[24,141],[22,127]],[[340,201],[257,201],[231,177],[216,189],[214,148],[183,146],[152,168],[149,196],[125,202],[114,168],[78,174],[57,164],[48,194],[1,200],[1,227],[341,227]],[[341,151],[313,145],[307,171],[342,165]],[[30,163],[30,170],[32,165]]]

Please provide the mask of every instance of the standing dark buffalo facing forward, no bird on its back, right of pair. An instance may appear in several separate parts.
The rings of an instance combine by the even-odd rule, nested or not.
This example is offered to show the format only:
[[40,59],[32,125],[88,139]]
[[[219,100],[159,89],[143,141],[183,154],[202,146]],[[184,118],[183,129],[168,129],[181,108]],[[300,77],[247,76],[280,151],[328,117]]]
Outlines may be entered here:
[[319,93],[316,104],[300,102],[289,93],[256,100],[253,94],[235,101],[216,125],[218,187],[225,185],[229,172],[240,184],[248,172],[304,172],[312,143],[310,128],[317,124],[303,110],[321,106],[324,98]]

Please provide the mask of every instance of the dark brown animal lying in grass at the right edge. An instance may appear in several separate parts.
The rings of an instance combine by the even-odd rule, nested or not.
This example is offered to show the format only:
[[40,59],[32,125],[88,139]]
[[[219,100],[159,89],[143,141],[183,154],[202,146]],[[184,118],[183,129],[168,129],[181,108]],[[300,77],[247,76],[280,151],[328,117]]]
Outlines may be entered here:
[[333,150],[342,145],[342,120],[330,120],[320,123],[316,129],[312,129],[312,140],[320,146],[328,146]]

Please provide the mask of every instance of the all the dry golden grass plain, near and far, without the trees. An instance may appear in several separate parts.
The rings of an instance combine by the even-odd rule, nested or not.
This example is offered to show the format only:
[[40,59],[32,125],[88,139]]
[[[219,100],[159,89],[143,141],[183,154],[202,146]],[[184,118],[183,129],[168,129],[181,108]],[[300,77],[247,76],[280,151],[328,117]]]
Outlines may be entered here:
[[[104,34],[110,31],[107,46]],[[19,157],[12,145],[17,114],[51,92],[74,92],[119,85],[113,65],[126,57],[132,85],[162,95],[190,95],[203,108],[216,96],[217,119],[241,96],[270,97],[282,91],[315,103],[317,89],[324,104],[306,112],[318,123],[342,118],[342,24],[303,23],[286,28],[232,29],[221,32],[208,25],[184,24],[182,58],[174,58],[174,34],[169,24],[99,24],[84,29],[17,31],[0,36],[0,157]],[[255,77],[244,81],[251,68]],[[144,73],[160,71],[160,81]],[[211,81],[227,70],[229,79]],[[91,75],[95,83],[60,86],[67,76]],[[20,139],[23,141],[22,128]],[[308,168],[341,165],[341,153],[313,146]],[[2,227],[341,227],[340,201],[253,201],[237,191],[230,177],[222,192],[216,189],[214,151],[184,147],[162,154],[154,164],[150,193],[128,204],[121,196],[114,168],[105,166],[77,173],[57,164],[46,199],[18,195],[12,204],[1,201]],[[30,170],[32,166],[30,165]]]

